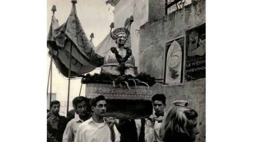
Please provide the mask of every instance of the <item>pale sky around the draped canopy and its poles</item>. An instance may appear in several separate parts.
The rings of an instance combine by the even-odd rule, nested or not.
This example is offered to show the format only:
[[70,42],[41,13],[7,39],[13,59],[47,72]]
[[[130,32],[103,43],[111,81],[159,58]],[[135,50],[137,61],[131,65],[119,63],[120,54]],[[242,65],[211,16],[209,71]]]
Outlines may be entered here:
[[[114,7],[106,5],[106,0],[77,0],[76,11],[81,22],[83,30],[87,37],[93,32],[93,44],[96,47],[109,33],[111,22],[114,22]],[[59,21],[59,25],[66,22],[72,8],[71,0],[47,0],[47,31],[45,40],[50,27],[52,19],[52,6],[55,5],[57,11],[54,16]],[[50,67],[50,57],[48,56],[48,48],[45,44],[45,56],[47,56],[47,81]],[[98,72],[98,71],[92,71]],[[47,82],[46,82],[47,83]],[[69,101],[79,95],[81,87],[81,79],[74,79],[70,81]],[[68,78],[65,78],[57,71],[55,65],[52,66],[52,93],[57,93],[56,100],[67,101]],[[50,83],[48,93],[50,92]],[[82,86],[81,96],[85,96],[85,85]],[[61,104],[64,105],[64,104]],[[69,104],[71,106],[72,104]]]

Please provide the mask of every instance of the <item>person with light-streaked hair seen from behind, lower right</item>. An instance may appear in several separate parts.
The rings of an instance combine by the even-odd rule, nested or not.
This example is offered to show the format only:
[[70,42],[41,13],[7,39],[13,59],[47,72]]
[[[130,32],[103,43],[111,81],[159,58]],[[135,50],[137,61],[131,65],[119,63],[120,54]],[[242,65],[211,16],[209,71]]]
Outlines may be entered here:
[[185,106],[174,106],[163,120],[160,137],[164,142],[191,142],[193,123],[197,112]]

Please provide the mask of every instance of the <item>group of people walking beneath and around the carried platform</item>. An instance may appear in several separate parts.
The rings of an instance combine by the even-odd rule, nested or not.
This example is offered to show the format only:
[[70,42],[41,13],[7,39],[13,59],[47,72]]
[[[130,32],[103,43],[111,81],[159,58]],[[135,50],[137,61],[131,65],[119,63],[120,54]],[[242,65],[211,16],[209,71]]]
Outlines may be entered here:
[[60,102],[50,102],[47,112],[47,142],[194,142],[197,112],[177,103],[167,113],[166,96],[152,97],[154,114],[131,120],[106,118],[104,96],[89,100],[78,96],[67,118],[59,115]]

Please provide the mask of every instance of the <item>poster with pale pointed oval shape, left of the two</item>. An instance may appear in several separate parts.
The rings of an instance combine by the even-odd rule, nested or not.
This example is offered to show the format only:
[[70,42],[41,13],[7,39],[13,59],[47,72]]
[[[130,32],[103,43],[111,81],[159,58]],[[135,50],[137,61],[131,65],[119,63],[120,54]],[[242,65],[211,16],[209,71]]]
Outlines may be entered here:
[[183,83],[185,37],[165,43],[164,83],[180,85]]

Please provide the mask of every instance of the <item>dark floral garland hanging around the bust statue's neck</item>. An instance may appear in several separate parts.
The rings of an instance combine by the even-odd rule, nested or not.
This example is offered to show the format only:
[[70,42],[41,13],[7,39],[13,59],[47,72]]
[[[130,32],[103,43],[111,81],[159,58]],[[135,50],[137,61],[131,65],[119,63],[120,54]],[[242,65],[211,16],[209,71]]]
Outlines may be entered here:
[[120,71],[121,75],[124,75],[125,70],[129,68],[129,67],[125,66],[125,62],[129,59],[129,57],[132,54],[131,49],[129,47],[125,47],[124,49],[126,50],[126,56],[122,57],[121,55],[118,54],[118,50],[116,49],[116,47],[111,47],[111,52],[115,54],[116,59],[119,63],[118,71]]

